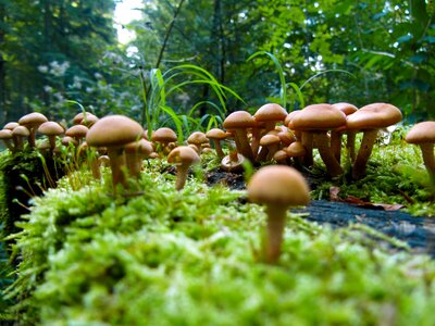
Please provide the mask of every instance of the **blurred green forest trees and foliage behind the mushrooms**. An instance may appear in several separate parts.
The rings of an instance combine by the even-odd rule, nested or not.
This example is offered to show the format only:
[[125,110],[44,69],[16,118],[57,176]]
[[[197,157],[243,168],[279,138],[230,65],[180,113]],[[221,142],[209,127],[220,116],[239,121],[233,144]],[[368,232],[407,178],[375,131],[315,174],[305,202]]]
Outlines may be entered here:
[[[117,2],[0,0],[1,125],[32,111],[69,122],[75,102],[144,123],[156,83],[166,89],[164,112],[203,125],[204,116],[282,103],[283,92],[287,111],[380,101],[408,123],[435,118],[432,1],[144,0],[141,18],[123,26],[136,36],[127,43],[114,27]],[[239,97],[219,98],[191,70],[165,75],[181,65]]]

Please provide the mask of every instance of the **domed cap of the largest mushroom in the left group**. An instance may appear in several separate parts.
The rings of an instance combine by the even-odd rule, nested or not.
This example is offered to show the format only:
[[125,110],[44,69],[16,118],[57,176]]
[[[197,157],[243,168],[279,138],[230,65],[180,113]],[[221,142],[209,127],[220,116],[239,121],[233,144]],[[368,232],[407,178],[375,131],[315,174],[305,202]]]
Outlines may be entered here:
[[86,142],[92,147],[122,147],[141,139],[144,128],[139,123],[124,115],[108,115],[91,126]]

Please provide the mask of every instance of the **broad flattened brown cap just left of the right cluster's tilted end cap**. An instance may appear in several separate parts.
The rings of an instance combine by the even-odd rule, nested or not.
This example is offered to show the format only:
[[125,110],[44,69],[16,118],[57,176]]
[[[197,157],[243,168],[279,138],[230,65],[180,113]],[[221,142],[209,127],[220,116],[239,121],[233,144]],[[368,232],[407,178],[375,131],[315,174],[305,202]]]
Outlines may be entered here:
[[289,124],[295,130],[331,130],[346,125],[346,114],[331,104],[312,104],[296,113]]

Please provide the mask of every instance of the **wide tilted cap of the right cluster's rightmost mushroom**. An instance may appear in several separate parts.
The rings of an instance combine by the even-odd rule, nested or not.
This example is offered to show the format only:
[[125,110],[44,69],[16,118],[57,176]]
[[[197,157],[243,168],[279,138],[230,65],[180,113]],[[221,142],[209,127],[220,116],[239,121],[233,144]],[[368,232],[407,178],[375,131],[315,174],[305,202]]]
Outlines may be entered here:
[[372,103],[362,106],[347,116],[349,129],[377,129],[397,124],[401,121],[401,112],[388,103]]

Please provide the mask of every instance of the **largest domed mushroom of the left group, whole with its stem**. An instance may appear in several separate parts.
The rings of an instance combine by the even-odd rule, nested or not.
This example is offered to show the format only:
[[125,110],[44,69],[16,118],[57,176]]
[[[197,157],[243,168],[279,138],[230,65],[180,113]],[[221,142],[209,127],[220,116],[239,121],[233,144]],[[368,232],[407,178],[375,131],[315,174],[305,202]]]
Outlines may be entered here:
[[125,166],[124,146],[137,141],[144,136],[144,128],[134,120],[124,115],[108,115],[91,126],[86,142],[91,147],[105,147],[112,170],[113,191],[116,186],[127,188],[123,167]]

